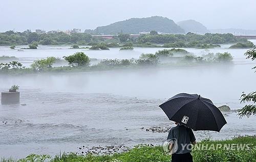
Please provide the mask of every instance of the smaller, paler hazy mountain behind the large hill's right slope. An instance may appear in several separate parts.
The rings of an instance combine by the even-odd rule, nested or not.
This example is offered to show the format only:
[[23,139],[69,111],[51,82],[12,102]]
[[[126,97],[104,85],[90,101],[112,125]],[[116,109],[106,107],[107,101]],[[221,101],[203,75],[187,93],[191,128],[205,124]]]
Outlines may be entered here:
[[184,21],[177,22],[177,24],[182,29],[184,29],[186,33],[193,32],[193,33],[205,34],[210,32],[202,23],[195,20],[184,20]]

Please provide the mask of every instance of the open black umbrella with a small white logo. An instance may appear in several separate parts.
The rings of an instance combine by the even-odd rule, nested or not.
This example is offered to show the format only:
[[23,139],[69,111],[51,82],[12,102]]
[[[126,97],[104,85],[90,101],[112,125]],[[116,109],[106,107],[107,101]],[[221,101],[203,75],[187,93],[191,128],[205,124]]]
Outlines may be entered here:
[[194,130],[220,131],[227,122],[211,100],[198,94],[180,93],[160,105],[169,120]]

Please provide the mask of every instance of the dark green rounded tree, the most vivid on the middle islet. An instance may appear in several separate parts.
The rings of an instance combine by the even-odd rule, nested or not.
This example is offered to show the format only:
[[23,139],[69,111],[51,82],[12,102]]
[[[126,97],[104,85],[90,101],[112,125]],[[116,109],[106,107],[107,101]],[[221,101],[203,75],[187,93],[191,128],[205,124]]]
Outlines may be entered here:
[[69,65],[73,67],[90,65],[90,58],[87,55],[85,55],[83,52],[76,52],[73,55],[63,57],[63,58],[69,62]]

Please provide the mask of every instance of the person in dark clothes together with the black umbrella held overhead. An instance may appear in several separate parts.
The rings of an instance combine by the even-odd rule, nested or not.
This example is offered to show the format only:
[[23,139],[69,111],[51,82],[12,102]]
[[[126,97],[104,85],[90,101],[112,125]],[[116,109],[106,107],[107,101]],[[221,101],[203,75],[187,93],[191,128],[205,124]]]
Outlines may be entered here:
[[164,143],[172,153],[172,162],[193,161],[191,144],[196,144],[196,138],[192,129],[219,132],[227,123],[214,103],[198,94],[180,93],[159,106],[177,124],[170,129],[168,142]]

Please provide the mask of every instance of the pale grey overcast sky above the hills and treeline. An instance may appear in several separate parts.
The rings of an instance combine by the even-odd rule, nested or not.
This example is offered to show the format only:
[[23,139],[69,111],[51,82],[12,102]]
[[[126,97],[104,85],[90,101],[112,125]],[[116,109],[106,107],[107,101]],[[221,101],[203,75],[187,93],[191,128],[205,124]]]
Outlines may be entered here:
[[195,19],[208,29],[256,29],[255,0],[1,0],[0,31],[95,29],[132,17]]

